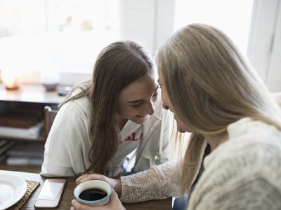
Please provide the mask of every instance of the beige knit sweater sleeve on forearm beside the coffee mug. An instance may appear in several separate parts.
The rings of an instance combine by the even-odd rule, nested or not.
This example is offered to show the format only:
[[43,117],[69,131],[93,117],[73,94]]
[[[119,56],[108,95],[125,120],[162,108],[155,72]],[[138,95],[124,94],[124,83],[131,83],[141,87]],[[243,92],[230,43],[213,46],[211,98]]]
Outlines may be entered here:
[[125,203],[162,200],[180,194],[180,173],[175,162],[158,165],[131,176],[122,176],[121,181],[120,200]]

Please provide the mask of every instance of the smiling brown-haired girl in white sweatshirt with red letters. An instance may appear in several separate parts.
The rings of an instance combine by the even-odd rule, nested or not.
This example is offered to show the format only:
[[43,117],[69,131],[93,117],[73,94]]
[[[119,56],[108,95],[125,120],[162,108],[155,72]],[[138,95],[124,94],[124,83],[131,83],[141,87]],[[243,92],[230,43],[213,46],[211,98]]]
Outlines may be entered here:
[[152,59],[141,45],[107,45],[96,59],[93,78],[79,83],[60,104],[46,140],[41,174],[96,172],[117,177],[166,162],[169,111],[162,108],[155,75]]

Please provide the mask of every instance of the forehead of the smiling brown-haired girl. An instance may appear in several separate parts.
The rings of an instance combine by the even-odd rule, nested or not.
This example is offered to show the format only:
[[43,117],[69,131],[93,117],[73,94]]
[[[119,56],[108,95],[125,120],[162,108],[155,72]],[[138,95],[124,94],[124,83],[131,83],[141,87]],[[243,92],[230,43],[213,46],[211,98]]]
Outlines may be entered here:
[[136,80],[126,86],[120,93],[119,98],[124,100],[145,99],[151,97],[157,88],[154,76],[147,75],[141,80]]

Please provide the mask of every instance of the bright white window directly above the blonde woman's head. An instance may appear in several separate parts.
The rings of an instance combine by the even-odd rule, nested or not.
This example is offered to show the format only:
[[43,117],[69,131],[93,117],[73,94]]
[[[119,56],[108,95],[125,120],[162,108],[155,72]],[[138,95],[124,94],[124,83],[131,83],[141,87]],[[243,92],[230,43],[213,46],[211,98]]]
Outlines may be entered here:
[[174,29],[192,22],[214,25],[246,54],[253,0],[177,0]]

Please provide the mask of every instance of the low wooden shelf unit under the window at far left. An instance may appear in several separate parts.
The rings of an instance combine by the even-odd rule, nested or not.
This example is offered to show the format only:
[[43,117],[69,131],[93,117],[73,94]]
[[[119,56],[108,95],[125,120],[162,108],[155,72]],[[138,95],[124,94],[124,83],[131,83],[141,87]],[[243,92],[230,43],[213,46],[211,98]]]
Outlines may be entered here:
[[[6,142],[8,140],[8,144],[13,143],[13,149],[15,146],[23,148],[27,144],[40,144],[44,150],[44,107],[58,109],[58,104],[63,99],[57,91],[47,92],[41,85],[21,85],[18,90],[6,90],[4,85],[0,85],[0,139]],[[40,165],[8,164],[11,155],[7,155],[7,151],[3,153],[3,147],[0,169],[40,172]],[[33,155],[33,152],[31,153]],[[40,152],[41,155],[42,153],[43,151]]]

